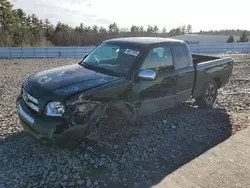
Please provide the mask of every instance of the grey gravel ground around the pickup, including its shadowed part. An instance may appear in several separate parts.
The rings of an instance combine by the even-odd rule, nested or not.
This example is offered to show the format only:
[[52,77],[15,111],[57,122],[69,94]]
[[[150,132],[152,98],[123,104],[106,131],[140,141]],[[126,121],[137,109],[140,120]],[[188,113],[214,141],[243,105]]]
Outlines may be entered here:
[[250,124],[250,56],[235,56],[233,76],[214,109],[191,102],[138,119],[110,122],[102,144],[43,146],[22,132],[15,99],[31,73],[79,59],[0,60],[0,185],[150,187]]

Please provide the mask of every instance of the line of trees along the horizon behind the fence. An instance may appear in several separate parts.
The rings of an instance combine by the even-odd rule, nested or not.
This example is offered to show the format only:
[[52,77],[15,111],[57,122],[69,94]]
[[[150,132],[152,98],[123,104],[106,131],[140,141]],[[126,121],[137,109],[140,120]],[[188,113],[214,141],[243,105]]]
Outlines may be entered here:
[[[200,31],[208,34],[223,31]],[[230,33],[243,33],[241,30],[230,30]],[[13,9],[8,0],[0,0],[0,47],[18,46],[86,46],[96,45],[103,40],[116,37],[172,37],[192,33],[190,24],[167,31],[158,26],[147,27],[132,25],[128,31],[121,30],[117,23],[108,28],[88,26],[80,23],[71,27],[65,23],[51,24],[48,19],[39,19],[35,14],[26,14],[22,9]],[[225,33],[228,33],[225,30]],[[246,34],[249,34],[246,33]]]

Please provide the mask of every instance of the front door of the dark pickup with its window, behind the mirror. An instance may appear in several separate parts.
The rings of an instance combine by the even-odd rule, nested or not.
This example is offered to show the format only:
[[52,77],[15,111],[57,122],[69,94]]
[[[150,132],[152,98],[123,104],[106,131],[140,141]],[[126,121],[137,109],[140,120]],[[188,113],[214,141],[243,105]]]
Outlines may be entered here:
[[176,103],[177,74],[168,45],[150,49],[141,67],[141,70],[148,69],[156,72],[156,79],[151,81],[140,79],[134,88],[138,93],[140,115],[149,115]]

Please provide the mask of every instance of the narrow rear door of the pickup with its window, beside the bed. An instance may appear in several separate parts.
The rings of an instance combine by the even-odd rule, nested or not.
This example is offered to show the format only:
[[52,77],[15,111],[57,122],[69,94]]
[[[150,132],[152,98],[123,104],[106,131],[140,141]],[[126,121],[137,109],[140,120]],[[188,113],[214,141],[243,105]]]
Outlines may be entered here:
[[195,70],[190,53],[185,44],[171,45],[174,67],[177,72],[177,103],[190,98],[195,80]]

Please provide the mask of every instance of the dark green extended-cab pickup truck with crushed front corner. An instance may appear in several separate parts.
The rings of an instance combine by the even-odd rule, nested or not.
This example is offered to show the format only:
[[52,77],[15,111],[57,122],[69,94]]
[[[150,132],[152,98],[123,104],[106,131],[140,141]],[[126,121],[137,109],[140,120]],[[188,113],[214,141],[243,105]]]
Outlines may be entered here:
[[180,40],[106,40],[77,64],[27,78],[17,98],[19,119],[45,143],[97,139],[114,112],[132,124],[191,98],[212,107],[232,69],[232,58],[191,54]]

